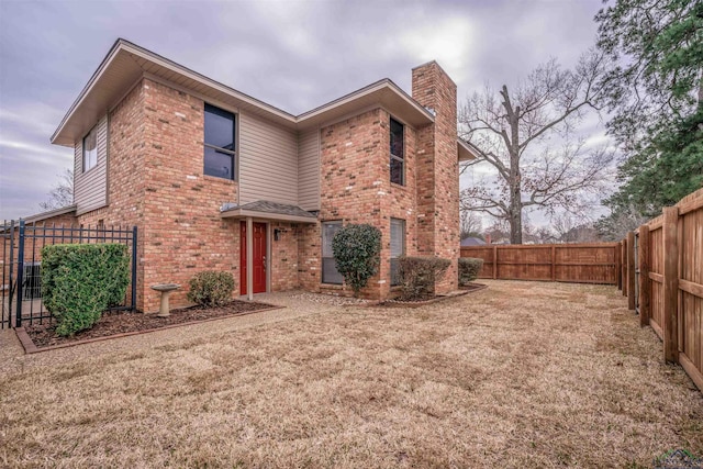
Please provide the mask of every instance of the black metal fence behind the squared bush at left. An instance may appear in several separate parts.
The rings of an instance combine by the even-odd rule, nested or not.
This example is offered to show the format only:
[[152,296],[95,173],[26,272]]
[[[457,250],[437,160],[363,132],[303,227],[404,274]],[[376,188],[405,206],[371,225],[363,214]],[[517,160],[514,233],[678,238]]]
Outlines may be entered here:
[[26,224],[23,220],[0,225],[2,257],[0,328],[52,321],[42,302],[42,248],[51,244],[120,243],[131,253],[131,288],[121,305],[110,311],[136,310],[137,228],[122,226],[56,226]]

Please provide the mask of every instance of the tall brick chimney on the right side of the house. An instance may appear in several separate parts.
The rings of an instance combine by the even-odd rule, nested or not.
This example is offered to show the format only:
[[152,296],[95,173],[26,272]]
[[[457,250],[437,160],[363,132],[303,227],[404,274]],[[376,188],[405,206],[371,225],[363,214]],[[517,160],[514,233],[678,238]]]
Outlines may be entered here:
[[437,293],[456,290],[459,258],[457,86],[436,62],[413,68],[413,99],[435,115],[417,130],[417,249],[451,260]]

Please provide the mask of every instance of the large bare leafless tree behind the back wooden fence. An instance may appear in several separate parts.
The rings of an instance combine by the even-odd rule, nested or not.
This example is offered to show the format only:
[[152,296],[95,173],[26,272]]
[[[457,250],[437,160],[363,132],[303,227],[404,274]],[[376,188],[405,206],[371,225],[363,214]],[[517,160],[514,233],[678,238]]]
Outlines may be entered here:
[[[521,244],[523,209],[582,210],[583,197],[599,191],[612,153],[585,152],[574,125],[598,109],[603,54],[584,54],[572,70],[550,62],[537,67],[514,91],[490,87],[471,96],[459,115],[462,136],[477,154],[469,167],[488,164],[498,177],[483,177],[461,193],[462,208],[510,223],[511,243]],[[546,146],[550,137],[556,147]],[[539,150],[540,149],[540,150]]]

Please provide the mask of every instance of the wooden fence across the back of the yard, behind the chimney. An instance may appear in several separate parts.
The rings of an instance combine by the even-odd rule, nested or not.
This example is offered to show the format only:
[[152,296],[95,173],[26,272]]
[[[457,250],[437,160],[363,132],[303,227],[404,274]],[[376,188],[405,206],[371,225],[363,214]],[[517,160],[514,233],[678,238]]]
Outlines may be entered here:
[[616,284],[621,270],[618,243],[468,246],[461,257],[483,259],[486,279]]

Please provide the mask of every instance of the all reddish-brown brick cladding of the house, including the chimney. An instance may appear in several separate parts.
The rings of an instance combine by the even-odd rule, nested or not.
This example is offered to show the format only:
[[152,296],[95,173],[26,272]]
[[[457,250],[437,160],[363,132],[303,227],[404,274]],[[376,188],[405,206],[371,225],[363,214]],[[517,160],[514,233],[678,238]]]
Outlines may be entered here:
[[[379,273],[362,294],[386,299],[390,286],[390,219],[405,221],[408,255],[453,260],[438,291],[457,288],[458,163],[456,86],[436,63],[413,70],[413,97],[436,112],[434,124],[405,125],[405,183],[390,182],[390,118],[382,108],[321,129],[320,221],[371,223],[381,230]],[[393,115],[402,122],[401,116]],[[203,101],[142,79],[109,115],[109,205],[79,216],[83,224],[137,225],[138,309],[158,309],[149,286],[188,280],[214,269],[239,279],[239,221],[219,208],[237,200],[238,183],[203,176]],[[245,157],[245,155],[243,155]],[[349,291],[321,284],[321,225],[270,222],[271,290]],[[242,292],[244,293],[244,292]]]

